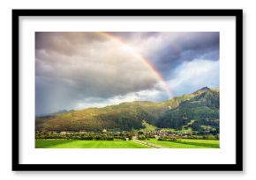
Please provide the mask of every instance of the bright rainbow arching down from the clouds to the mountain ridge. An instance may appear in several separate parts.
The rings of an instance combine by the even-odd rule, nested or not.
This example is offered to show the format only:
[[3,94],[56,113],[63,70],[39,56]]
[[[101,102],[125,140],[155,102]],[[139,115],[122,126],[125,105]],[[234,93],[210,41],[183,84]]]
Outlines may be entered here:
[[145,58],[144,56],[142,56],[141,54],[139,54],[137,51],[135,51],[133,48],[129,47],[129,45],[127,45],[124,40],[121,40],[119,38],[117,38],[116,36],[114,36],[113,34],[109,33],[109,32],[98,32],[100,35],[110,39],[110,40],[115,40],[117,43],[119,43],[121,46],[127,47],[129,49],[129,51],[136,55],[137,57],[139,57],[139,59],[146,65],[146,67],[154,73],[154,76],[156,77],[156,79],[158,79],[161,83],[162,83],[162,87],[164,88],[164,90],[166,91],[166,93],[168,94],[169,97],[172,97],[171,92],[169,90],[169,85],[168,83],[166,83],[166,81],[164,80],[164,78],[162,77],[162,75],[154,68],[153,64],[150,63],[150,61],[147,60],[147,58]]

